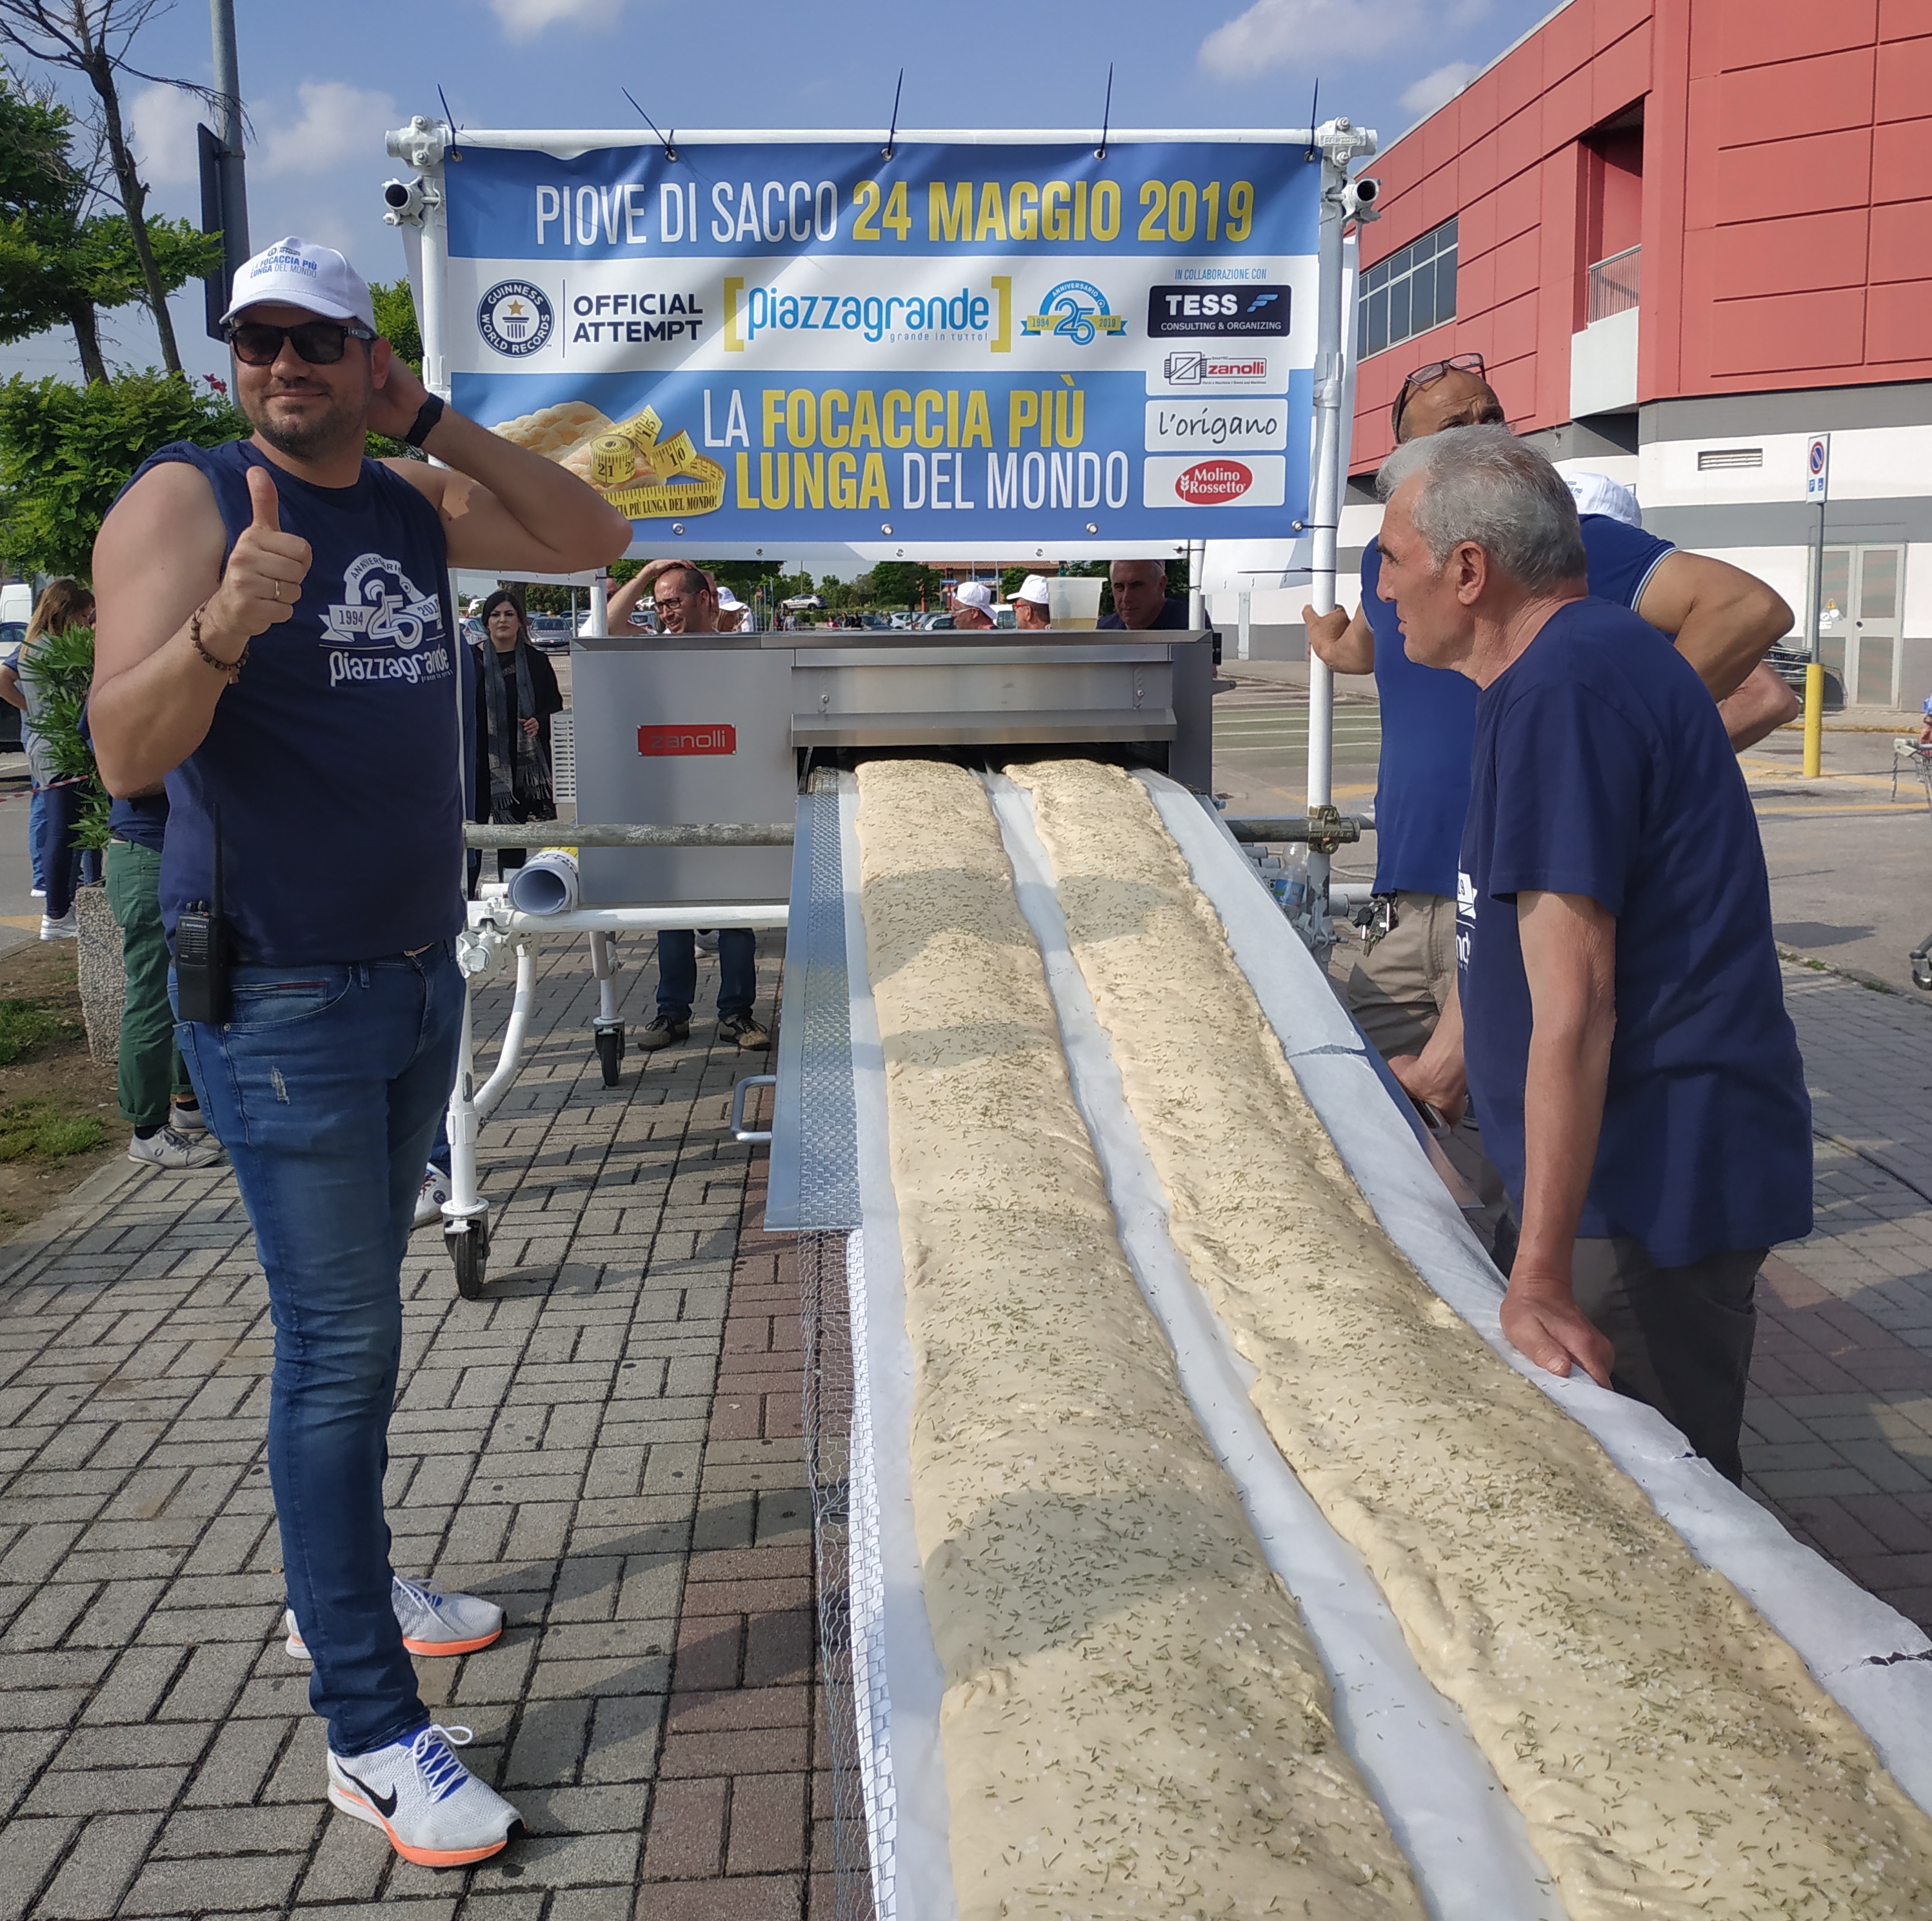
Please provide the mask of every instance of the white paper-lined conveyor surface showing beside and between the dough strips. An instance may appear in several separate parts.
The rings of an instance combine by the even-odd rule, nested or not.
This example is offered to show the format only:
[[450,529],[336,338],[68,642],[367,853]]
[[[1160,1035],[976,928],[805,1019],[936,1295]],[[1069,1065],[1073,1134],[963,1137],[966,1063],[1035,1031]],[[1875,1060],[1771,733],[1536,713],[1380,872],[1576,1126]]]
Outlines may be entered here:
[[[1422,1277],[1513,1366],[1584,1422],[1636,1478],[1692,1550],[1725,1573],[1804,1656],[1824,1687],[1866,1730],[1901,1786],[1932,1805],[1932,1643],[1876,1598],[1795,1542],[1772,1515],[1687,1457],[1658,1415],[1598,1390],[1561,1382],[1522,1362],[1497,1322],[1497,1277],[1389,1100],[1364,1042],[1314,962],[1293,937],[1236,843],[1200,800],[1144,775],[1196,883],[1215,904],[1264,1015],[1294,1063],[1316,1113],[1391,1239]],[[806,1036],[781,1057],[775,1212],[767,1225],[831,1227],[833,1212],[860,1227],[850,1237],[854,1347],[850,1451],[850,1666],[858,1761],[864,1776],[875,1911],[941,1921],[956,1913],[947,1855],[947,1792],[939,1757],[943,1676],[933,1652],[912,1529],[912,1353],[904,1322],[898,1221],[885,1140],[885,1076],[866,941],[858,912],[856,788],[802,804],[786,1005],[806,1003]],[[1070,955],[1051,874],[1024,792],[989,788],[1020,881],[1020,904],[1047,962],[1068,1040],[1074,1088],[1094,1133],[1122,1239],[1155,1312],[1175,1341],[1182,1384],[1225,1465],[1242,1488],[1271,1563],[1302,1604],[1335,1677],[1343,1739],[1389,1813],[1432,1913],[1507,1921],[1555,1917],[1561,1906],[1493,1772],[1457,1710],[1414,1668],[1379,1591],[1360,1560],[1314,1509],[1267,1440],[1246,1399],[1252,1378],[1167,1243],[1165,1208],[1121,1100],[1111,1053]],[[817,850],[808,848],[806,812]],[[838,858],[825,843],[837,833]],[[837,891],[837,906],[833,910]],[[806,939],[798,939],[804,926]],[[837,955],[835,955],[837,947]],[[844,1036],[821,1003],[842,974]],[[796,978],[796,988],[794,988]],[[810,982],[810,989],[808,989]],[[848,1049],[850,1094],[833,1063],[813,1053]],[[798,1096],[850,1102],[850,1129],[819,1115],[796,1129]],[[786,1144],[786,1113],[792,1144]],[[829,1125],[827,1125],[829,1123]],[[777,1169],[792,1156],[788,1194],[837,1194],[831,1210],[781,1204]],[[844,1206],[838,1206],[844,1204]]]

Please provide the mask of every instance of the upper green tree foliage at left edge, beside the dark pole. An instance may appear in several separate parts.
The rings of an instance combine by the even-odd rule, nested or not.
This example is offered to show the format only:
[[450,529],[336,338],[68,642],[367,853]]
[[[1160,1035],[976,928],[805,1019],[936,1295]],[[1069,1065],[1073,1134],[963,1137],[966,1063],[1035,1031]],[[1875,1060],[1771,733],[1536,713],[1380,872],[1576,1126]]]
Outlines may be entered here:
[[[89,215],[93,186],[73,162],[73,122],[0,68],[0,342],[68,325],[89,381],[106,379],[100,307],[145,300],[126,218]],[[220,236],[185,220],[147,222],[149,255],[172,294],[220,261]]]

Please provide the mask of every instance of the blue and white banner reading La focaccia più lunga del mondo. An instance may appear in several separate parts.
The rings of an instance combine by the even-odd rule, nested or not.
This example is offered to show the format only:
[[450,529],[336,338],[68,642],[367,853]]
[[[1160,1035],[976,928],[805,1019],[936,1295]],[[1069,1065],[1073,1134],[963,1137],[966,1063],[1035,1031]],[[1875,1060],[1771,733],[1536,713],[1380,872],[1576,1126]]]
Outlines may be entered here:
[[556,145],[444,164],[452,398],[651,551],[1030,559],[1306,514],[1300,143]]

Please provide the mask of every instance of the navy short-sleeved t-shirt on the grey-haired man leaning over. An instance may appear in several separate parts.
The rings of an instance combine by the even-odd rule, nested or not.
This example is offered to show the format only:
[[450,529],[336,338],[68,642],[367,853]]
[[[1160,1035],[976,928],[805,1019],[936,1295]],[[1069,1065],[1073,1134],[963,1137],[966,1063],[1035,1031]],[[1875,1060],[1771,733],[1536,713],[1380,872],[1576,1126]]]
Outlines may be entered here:
[[1519,893],[1617,916],[1617,1034],[1578,1233],[1634,1235],[1663,1268],[1810,1233],[1810,1100],[1758,821],[1696,669],[1623,607],[1567,603],[1476,702],[1463,1047],[1484,1152],[1520,1210]]

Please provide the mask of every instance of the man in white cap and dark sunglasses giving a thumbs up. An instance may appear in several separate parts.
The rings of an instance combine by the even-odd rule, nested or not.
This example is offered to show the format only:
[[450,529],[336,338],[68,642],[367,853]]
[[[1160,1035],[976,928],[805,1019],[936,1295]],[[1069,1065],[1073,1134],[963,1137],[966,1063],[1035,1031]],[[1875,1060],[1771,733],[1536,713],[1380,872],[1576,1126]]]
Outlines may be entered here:
[[[245,261],[224,325],[255,431],[162,448],[110,510],[89,713],[112,794],[166,781],[178,982],[184,914],[218,903],[226,926],[226,991],[176,1034],[269,1281],[288,1649],[315,1664],[328,1799],[454,1867],[518,1813],[431,1722],[410,1654],[485,1647],[502,1610],[396,1579],[383,1519],[398,1276],[464,1003],[448,570],[605,566],[630,524],[429,394],[330,247]],[[369,433],[439,464],[367,460]]]

